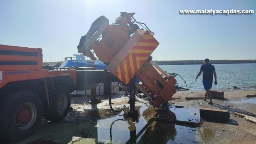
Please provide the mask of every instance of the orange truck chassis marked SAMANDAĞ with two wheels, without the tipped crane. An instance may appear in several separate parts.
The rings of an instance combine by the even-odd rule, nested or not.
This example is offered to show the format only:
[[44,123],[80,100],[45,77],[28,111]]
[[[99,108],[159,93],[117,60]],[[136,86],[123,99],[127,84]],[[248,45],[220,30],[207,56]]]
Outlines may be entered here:
[[20,141],[33,135],[43,117],[65,118],[74,90],[119,82],[105,70],[43,69],[42,56],[41,48],[0,44],[1,138]]

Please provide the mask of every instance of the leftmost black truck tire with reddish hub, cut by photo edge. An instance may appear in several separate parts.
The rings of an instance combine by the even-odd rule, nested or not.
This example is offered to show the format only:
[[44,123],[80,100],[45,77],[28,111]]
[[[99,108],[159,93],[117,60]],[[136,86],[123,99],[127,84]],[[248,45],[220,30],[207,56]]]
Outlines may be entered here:
[[20,141],[33,135],[43,118],[43,105],[37,95],[19,91],[0,100],[0,135]]

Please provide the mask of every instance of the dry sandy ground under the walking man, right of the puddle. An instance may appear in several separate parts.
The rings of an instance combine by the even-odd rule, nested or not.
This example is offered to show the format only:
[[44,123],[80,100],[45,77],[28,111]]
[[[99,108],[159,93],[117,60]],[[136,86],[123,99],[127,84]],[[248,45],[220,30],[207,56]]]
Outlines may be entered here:
[[207,122],[204,119],[202,121],[202,128],[209,131],[215,131],[215,133],[221,134],[221,136],[214,136],[212,139],[207,139],[205,135],[205,143],[216,144],[252,144],[256,141],[256,124],[246,121],[243,117],[235,115],[234,112],[244,113],[247,115],[256,116],[256,98],[247,98],[246,95],[256,94],[253,88],[248,89],[223,89],[217,91],[224,91],[224,100],[214,99],[214,105],[209,105],[207,100],[185,100],[185,97],[204,96],[204,91],[180,91],[177,92],[171,100],[175,104],[183,105],[185,108],[213,108],[229,110],[230,120],[228,122],[216,123]]

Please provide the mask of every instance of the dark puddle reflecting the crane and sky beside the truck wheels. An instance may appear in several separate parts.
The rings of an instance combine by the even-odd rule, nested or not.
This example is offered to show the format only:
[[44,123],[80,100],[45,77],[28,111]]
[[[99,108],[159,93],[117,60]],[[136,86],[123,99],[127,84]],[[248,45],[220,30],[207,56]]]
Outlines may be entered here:
[[[202,127],[181,125],[172,122],[152,121],[151,118],[200,122],[199,109],[170,108],[157,109],[143,105],[136,106],[139,117],[116,115],[111,109],[96,109],[93,112],[76,111],[60,122],[42,124],[37,133],[17,144],[124,144],[124,143],[202,143],[202,134],[213,137]],[[129,108],[126,108],[129,110]],[[119,114],[123,114],[120,112]]]

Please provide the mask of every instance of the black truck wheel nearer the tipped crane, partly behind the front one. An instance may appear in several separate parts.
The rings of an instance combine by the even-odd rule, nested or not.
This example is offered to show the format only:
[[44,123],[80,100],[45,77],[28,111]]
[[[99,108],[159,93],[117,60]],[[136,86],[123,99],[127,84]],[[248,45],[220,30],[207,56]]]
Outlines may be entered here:
[[54,95],[52,95],[50,108],[44,108],[43,116],[50,121],[59,121],[65,118],[71,105],[71,96],[68,88],[65,86],[55,86]]

